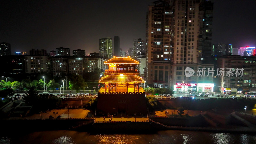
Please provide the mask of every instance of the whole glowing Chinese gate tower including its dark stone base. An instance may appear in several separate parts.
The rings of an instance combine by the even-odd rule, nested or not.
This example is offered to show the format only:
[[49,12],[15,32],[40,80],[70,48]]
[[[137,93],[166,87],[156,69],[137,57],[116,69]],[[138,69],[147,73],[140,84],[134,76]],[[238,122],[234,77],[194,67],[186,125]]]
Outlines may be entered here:
[[98,95],[98,113],[146,115],[145,91],[140,87],[144,80],[135,69],[139,61],[130,56],[114,56],[104,64],[108,65],[108,70],[105,70],[105,76],[99,81],[104,87],[100,88]]

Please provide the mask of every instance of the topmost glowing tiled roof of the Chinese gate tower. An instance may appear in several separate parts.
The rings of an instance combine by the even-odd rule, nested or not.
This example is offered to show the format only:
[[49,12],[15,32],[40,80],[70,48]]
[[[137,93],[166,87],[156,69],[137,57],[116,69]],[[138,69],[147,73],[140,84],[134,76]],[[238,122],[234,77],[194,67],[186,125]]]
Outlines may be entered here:
[[116,57],[114,56],[112,59],[107,60],[104,62],[104,64],[139,64],[139,61],[133,60],[130,56],[128,57]]

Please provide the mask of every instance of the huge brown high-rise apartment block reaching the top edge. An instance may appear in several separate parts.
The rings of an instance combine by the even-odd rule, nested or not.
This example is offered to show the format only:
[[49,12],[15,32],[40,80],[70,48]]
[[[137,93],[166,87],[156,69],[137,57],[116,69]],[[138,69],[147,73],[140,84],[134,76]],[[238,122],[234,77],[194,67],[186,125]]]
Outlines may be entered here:
[[[147,83],[211,83],[213,78],[186,77],[186,67],[213,68],[213,3],[204,0],[159,0],[148,8],[146,31]],[[157,83],[156,83],[157,81]]]

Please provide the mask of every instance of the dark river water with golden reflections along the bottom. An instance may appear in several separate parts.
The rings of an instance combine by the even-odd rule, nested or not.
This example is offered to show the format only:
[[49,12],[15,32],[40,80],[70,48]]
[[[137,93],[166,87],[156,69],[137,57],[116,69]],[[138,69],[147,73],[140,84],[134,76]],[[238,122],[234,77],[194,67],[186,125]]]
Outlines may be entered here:
[[[19,144],[256,144],[256,135],[193,131],[159,131],[154,134],[100,134],[77,131],[42,131],[9,135],[10,143]],[[1,142],[0,142],[1,143]]]

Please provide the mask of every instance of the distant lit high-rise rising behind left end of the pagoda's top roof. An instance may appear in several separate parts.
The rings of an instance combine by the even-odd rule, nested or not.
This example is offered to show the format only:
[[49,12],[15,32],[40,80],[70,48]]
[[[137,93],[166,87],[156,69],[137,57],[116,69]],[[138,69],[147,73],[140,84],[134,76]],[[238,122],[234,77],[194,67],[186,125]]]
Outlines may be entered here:
[[110,37],[105,37],[100,39],[100,56],[104,58],[112,58],[112,39]]

